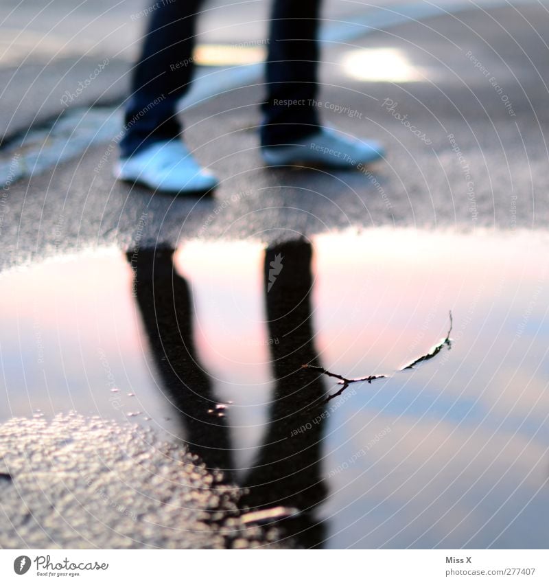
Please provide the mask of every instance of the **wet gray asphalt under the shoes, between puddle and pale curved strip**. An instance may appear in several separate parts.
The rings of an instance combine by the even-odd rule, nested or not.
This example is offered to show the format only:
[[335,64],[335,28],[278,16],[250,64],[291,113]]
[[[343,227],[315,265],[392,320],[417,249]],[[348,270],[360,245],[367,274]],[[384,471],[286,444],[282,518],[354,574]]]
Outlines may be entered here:
[[[264,168],[255,131],[263,91],[255,84],[186,112],[187,143],[222,181],[213,198],[172,199],[117,183],[110,174],[115,142],[95,146],[5,193],[2,266],[95,245],[128,248],[143,213],[142,245],[196,236],[269,240],[284,231],[350,226],[543,228],[549,16],[539,5],[520,11],[521,17],[515,8],[471,10],[355,43],[405,50],[428,73],[425,82],[351,80],[338,61],[351,47],[325,50],[320,100],[358,111],[362,119],[323,108],[324,119],[382,141],[388,155],[371,174]],[[515,117],[467,51],[504,87]],[[431,145],[387,111],[387,98]]]

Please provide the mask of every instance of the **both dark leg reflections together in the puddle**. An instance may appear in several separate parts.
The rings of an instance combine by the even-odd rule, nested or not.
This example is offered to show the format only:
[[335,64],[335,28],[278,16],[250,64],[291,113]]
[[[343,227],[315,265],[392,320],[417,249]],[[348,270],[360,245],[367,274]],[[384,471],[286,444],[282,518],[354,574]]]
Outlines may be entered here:
[[[231,443],[226,418],[217,413],[212,383],[198,362],[189,285],[176,273],[174,249],[128,253],[137,304],[163,389],[187,432],[187,444],[208,468],[231,477]],[[312,325],[312,246],[303,240],[269,247],[264,260],[264,294],[272,356],[274,393],[264,443],[247,472],[240,508],[299,510],[277,525],[303,547],[319,547],[325,526],[314,519],[326,487],[320,475],[321,442],[327,414],[322,378],[302,365],[319,365]]]

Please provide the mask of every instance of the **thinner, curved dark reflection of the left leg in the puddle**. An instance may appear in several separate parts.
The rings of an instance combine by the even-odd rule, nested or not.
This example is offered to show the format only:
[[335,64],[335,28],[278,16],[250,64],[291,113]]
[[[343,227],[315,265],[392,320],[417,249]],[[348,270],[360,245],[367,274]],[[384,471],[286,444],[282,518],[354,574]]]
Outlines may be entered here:
[[209,468],[231,468],[229,435],[215,405],[209,376],[197,360],[191,295],[174,271],[173,249],[128,253],[135,270],[137,304],[166,396],[187,429],[187,442]]

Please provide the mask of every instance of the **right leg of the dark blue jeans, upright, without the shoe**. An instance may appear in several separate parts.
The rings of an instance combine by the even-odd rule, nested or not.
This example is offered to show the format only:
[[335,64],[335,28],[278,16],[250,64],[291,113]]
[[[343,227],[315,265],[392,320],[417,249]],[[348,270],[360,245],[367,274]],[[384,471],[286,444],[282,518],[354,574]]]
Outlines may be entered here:
[[[320,0],[273,0],[261,144],[275,146],[316,131]],[[292,104],[288,104],[288,100]]]

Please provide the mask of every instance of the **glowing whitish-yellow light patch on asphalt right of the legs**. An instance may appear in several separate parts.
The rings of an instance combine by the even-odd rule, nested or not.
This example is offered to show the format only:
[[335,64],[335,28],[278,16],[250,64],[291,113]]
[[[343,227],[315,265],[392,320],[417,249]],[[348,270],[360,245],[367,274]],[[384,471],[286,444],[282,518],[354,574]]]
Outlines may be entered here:
[[406,54],[399,49],[359,49],[347,53],[342,60],[344,71],[360,81],[403,83],[420,81],[423,76]]

